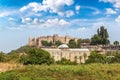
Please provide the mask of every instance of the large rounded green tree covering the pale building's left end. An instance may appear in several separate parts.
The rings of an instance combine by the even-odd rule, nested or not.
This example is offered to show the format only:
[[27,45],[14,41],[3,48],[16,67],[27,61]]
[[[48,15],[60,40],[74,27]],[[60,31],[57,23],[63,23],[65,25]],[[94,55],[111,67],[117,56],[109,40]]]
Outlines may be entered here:
[[52,64],[54,59],[50,54],[42,49],[32,49],[29,51],[28,56],[23,64]]

